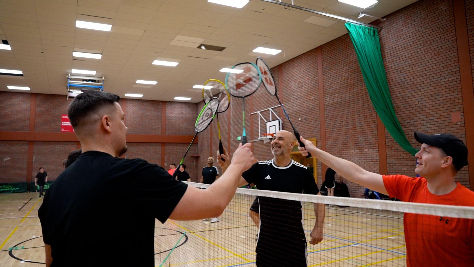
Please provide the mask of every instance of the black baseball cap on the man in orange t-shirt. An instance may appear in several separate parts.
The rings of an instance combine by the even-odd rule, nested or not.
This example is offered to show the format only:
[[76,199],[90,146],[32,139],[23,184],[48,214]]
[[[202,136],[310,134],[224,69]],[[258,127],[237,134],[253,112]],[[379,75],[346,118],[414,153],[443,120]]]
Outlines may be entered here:
[[422,134],[415,132],[418,143],[426,143],[441,148],[448,156],[453,158],[453,164],[459,171],[467,165],[467,147],[459,138],[452,134]]

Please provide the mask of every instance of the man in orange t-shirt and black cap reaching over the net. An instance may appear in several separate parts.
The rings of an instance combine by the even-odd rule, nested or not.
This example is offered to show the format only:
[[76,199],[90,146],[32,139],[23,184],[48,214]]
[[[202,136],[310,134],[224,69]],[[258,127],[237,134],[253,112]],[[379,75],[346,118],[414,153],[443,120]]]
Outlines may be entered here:
[[[474,206],[474,192],[455,180],[467,165],[467,147],[451,134],[415,132],[421,143],[415,172],[421,177],[380,175],[337,158],[301,137],[303,156],[318,158],[342,177],[402,201]],[[407,266],[474,266],[474,220],[405,213]]]

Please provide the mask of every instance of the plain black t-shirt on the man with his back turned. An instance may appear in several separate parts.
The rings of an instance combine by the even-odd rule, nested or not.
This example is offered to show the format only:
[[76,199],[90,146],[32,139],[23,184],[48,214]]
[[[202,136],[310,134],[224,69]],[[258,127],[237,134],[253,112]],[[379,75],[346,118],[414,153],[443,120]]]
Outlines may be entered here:
[[[142,159],[82,153],[56,178],[38,211],[51,266],[153,266],[155,218],[164,223],[186,189]],[[85,259],[94,248],[100,257]]]

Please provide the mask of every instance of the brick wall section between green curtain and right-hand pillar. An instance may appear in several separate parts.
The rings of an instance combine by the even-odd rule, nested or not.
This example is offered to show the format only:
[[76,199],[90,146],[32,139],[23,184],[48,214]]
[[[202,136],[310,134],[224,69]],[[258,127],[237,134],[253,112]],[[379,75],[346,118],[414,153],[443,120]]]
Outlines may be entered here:
[[[418,1],[387,16],[380,26],[395,114],[412,146],[420,146],[414,131],[454,134],[465,142],[452,1]],[[453,112],[461,112],[461,122],[451,122]],[[415,158],[388,132],[386,147],[389,174],[415,175]],[[467,166],[456,180],[469,187]]]

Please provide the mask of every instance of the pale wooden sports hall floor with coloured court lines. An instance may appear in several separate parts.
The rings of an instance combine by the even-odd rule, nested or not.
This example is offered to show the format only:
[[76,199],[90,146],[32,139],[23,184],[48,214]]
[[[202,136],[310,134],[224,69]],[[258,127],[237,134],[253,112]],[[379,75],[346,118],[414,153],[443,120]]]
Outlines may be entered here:
[[[217,223],[156,220],[155,266],[255,266],[257,228],[248,216],[254,199],[236,195]],[[42,200],[37,193],[0,194],[0,266],[44,264]],[[310,240],[314,212],[309,203],[303,207]],[[402,218],[400,212],[326,206],[324,239],[308,245],[308,266],[405,266]]]

